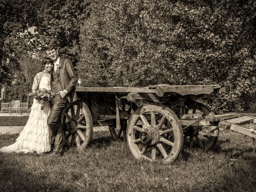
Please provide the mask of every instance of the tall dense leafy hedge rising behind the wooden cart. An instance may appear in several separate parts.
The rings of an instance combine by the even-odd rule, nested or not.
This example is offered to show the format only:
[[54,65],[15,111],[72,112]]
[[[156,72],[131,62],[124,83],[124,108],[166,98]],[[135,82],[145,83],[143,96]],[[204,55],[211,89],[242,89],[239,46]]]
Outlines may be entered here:
[[256,102],[253,0],[94,0],[80,28],[84,86],[221,84],[216,112]]

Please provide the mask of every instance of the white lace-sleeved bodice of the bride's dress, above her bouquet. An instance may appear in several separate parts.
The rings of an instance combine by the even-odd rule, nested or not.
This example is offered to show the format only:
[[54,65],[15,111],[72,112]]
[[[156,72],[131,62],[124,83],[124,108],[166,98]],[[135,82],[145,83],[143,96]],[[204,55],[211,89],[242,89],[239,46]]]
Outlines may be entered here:
[[39,72],[38,74],[36,74],[36,76],[34,78],[32,89],[34,89],[34,90],[38,90],[38,89],[51,90],[50,78],[51,78],[50,73]]

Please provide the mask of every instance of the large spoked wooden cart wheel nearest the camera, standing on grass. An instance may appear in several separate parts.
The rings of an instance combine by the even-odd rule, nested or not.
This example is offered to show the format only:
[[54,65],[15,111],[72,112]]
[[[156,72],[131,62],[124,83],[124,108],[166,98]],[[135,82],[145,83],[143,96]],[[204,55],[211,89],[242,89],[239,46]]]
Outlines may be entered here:
[[180,121],[170,108],[146,104],[130,117],[127,142],[135,158],[172,162],[183,145]]

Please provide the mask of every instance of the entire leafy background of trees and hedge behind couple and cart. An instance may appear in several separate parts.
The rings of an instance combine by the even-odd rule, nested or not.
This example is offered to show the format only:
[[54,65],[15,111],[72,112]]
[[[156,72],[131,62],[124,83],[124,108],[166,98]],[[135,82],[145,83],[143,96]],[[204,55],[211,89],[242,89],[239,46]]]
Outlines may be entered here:
[[214,111],[245,109],[256,102],[255,9],[252,0],[0,0],[0,80],[20,52],[55,44],[84,86],[221,84]]

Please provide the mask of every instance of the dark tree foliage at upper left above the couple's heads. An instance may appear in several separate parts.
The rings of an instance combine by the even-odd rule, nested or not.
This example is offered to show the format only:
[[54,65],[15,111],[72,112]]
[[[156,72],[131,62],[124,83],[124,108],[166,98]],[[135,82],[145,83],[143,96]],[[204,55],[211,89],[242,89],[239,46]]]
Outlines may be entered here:
[[17,55],[27,51],[38,56],[47,44],[55,45],[60,56],[76,64],[80,23],[86,17],[83,9],[87,4],[83,0],[1,0],[1,80],[7,80],[9,73],[4,65],[13,63],[18,68]]

